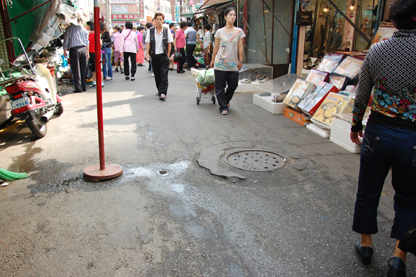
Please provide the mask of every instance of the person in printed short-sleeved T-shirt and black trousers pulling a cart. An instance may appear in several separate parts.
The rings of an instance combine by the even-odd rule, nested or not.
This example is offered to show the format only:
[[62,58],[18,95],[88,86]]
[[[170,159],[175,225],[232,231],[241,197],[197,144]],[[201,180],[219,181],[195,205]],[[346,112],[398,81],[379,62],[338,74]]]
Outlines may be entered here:
[[[239,86],[239,71],[243,66],[243,37],[241,28],[234,27],[236,9],[229,7],[224,12],[227,25],[215,33],[214,53],[211,66],[215,72],[215,92],[220,113],[228,114],[229,101]],[[227,90],[225,90],[227,87]]]

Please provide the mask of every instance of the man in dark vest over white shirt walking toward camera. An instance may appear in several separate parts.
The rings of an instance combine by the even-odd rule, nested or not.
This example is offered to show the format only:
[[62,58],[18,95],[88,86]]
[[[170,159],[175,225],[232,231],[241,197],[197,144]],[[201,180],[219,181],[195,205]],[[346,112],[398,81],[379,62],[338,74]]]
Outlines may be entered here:
[[[159,99],[165,100],[168,93],[169,57],[171,53],[172,33],[163,26],[164,14],[155,13],[156,26],[148,30],[146,51],[152,57],[153,73]],[[148,57],[149,59],[149,57]]]

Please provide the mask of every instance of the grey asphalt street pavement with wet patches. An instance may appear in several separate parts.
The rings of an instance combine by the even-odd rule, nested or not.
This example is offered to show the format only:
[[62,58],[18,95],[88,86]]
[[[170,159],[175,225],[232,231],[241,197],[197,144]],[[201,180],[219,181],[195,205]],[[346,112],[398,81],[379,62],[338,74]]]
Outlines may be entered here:
[[[83,179],[99,161],[95,89],[64,93],[43,139],[19,122],[0,133],[0,168],[31,175],[0,188],[0,276],[385,276],[390,177],[365,266],[351,228],[359,154],[257,107],[253,93],[236,93],[222,116],[196,105],[195,90],[190,71],[170,71],[159,100],[147,66],[135,81],[105,81],[105,161],[123,167],[109,181]],[[286,161],[266,172],[225,162],[244,149]],[[413,255],[407,267],[416,276]]]

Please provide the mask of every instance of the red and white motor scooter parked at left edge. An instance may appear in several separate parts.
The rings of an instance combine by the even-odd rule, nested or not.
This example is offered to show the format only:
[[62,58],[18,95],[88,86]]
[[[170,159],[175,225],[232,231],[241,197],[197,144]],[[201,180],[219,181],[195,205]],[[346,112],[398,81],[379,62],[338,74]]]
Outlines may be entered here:
[[[0,42],[16,39],[23,54],[10,63],[10,68],[1,70],[0,87],[8,93],[11,103],[11,116],[19,117],[28,125],[37,139],[46,135],[46,122],[51,116],[63,113],[62,98],[57,93],[50,71],[43,64],[33,64],[39,51],[26,53],[17,37],[3,39]],[[4,63],[0,59],[0,66]]]

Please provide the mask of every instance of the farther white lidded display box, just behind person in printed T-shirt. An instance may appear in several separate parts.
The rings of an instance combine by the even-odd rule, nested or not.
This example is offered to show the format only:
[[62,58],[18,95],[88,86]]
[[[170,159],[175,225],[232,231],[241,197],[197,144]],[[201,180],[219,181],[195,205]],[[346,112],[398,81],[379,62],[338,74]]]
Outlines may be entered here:
[[[239,87],[237,87],[236,92],[252,92],[256,87],[263,87],[268,82],[271,82],[272,77],[272,66],[264,64],[243,64],[239,72]],[[263,79],[259,80],[261,78]],[[252,81],[245,84],[248,79]]]

